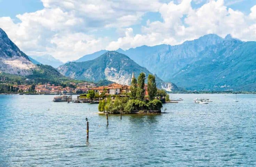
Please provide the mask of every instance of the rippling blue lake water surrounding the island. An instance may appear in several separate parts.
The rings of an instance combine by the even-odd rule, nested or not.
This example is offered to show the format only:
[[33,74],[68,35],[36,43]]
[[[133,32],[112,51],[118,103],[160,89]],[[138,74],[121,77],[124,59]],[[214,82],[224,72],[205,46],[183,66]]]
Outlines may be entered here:
[[106,126],[97,104],[0,95],[0,166],[256,166],[256,95],[170,97],[184,101],[159,115],[109,115]]

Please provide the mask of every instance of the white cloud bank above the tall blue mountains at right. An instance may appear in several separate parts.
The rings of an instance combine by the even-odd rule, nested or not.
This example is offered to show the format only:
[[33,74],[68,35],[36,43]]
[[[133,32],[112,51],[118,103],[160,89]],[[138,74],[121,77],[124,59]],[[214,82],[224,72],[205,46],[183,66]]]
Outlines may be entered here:
[[[142,34],[128,33],[124,37],[112,41],[108,48],[128,49],[139,45],[181,44],[205,34],[218,34],[225,37],[231,34],[243,41],[256,39],[256,6],[251,8],[250,15],[227,8],[224,0],[211,0],[198,9],[192,9],[191,0],[183,0],[179,4],[173,1],[159,8],[163,22],[147,21],[142,27]],[[141,42],[143,41],[143,42]]]

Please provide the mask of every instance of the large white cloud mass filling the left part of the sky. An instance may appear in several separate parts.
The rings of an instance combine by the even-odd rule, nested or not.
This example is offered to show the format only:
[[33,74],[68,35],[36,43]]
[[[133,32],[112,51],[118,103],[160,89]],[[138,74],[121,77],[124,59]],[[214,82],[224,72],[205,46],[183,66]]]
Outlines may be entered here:
[[63,61],[107,46],[107,37],[94,37],[91,32],[137,24],[145,12],[157,11],[161,5],[157,0],[42,2],[44,9],[17,15],[20,23],[1,17],[0,25],[26,54],[52,54]]

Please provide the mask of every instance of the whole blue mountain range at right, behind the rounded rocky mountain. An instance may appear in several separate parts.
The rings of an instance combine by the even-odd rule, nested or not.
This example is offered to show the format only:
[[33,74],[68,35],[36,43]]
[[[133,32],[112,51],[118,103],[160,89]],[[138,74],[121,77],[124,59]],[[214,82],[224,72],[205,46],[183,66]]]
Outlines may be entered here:
[[[252,73],[256,69],[253,65],[256,63],[254,44],[256,42],[242,42],[231,35],[222,38],[208,34],[175,46],[143,45],[117,51],[164,81],[187,90],[255,91],[256,76]],[[92,56],[96,58],[98,54],[90,54],[90,59]]]

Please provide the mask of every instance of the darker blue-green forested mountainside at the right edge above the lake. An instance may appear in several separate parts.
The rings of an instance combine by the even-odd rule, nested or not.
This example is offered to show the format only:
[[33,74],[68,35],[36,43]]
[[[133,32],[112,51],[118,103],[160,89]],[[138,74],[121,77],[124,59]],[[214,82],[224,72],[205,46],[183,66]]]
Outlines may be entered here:
[[173,76],[176,84],[188,90],[256,90],[256,42],[233,39],[201,54]]

